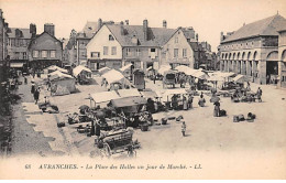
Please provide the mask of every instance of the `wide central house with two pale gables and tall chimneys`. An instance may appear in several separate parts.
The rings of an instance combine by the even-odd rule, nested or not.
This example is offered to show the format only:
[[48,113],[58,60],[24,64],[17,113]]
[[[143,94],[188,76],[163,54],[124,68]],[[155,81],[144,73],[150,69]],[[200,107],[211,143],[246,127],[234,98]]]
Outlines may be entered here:
[[167,29],[166,21],[163,28],[150,28],[147,20],[142,25],[103,24],[87,45],[87,58],[91,69],[130,63],[143,71],[163,64],[194,67],[194,52],[182,28]]

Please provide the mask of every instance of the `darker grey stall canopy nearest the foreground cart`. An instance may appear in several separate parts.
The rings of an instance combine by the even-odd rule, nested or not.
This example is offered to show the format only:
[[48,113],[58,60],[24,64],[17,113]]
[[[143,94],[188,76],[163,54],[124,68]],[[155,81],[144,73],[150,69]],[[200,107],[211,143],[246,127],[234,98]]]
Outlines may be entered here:
[[113,107],[130,107],[138,105],[145,105],[147,101],[143,97],[124,97],[119,99],[112,99],[111,104]]

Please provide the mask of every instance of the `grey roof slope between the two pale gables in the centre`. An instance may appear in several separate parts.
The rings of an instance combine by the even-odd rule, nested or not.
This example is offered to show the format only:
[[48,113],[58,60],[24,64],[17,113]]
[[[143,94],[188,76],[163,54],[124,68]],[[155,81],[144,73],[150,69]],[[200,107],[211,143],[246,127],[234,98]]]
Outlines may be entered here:
[[[116,36],[122,46],[163,46],[177,31],[176,29],[148,28],[148,40],[144,39],[143,25],[122,25],[124,34],[121,34],[120,24],[107,24],[107,28]],[[136,37],[139,44],[132,43],[132,37]]]

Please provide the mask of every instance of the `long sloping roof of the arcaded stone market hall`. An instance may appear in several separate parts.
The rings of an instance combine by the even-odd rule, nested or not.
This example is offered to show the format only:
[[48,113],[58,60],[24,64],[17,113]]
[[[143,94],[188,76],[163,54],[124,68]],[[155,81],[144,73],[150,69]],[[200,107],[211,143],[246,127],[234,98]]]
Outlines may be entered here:
[[228,36],[222,43],[260,35],[278,35],[278,28],[286,24],[286,19],[279,14],[246,24]]

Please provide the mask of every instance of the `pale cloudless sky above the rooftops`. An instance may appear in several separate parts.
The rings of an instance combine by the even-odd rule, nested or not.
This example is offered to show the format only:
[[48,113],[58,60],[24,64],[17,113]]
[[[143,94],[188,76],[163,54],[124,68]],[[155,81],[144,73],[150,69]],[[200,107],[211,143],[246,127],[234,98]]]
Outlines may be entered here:
[[72,29],[81,31],[87,21],[129,20],[150,26],[193,26],[199,41],[217,51],[220,32],[235,31],[251,23],[275,15],[286,18],[285,0],[0,0],[0,8],[10,28],[29,28],[35,23],[42,33],[44,23],[55,24],[56,37],[69,37]]

